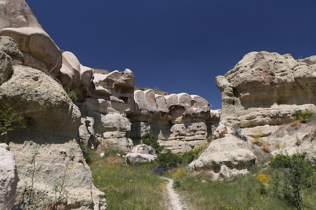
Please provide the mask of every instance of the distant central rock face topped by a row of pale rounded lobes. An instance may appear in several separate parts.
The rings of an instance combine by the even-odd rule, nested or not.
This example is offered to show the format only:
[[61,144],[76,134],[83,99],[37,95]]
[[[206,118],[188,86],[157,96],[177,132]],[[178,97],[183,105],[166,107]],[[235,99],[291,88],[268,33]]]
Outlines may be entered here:
[[163,148],[174,153],[184,153],[200,146],[212,134],[212,125],[217,125],[220,112],[211,114],[208,102],[200,96],[186,93],[157,95],[151,89],[134,92],[135,112],[129,115],[132,121],[131,138],[140,138],[150,132]]

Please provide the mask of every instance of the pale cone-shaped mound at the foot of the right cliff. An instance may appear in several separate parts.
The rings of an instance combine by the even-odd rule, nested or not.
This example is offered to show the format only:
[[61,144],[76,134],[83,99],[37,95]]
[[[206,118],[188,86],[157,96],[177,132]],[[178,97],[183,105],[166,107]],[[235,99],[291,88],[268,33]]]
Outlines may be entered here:
[[249,143],[227,135],[211,142],[200,157],[189,164],[189,168],[209,171],[214,179],[227,178],[247,173],[247,168],[256,160]]

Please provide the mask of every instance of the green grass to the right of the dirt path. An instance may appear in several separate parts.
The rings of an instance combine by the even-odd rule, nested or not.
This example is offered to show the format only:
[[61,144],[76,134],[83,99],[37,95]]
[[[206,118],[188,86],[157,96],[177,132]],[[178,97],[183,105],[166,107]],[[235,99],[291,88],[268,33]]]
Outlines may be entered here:
[[[257,171],[257,170],[255,170]],[[272,171],[267,171],[272,173]],[[232,209],[261,209],[261,210],[294,210],[285,199],[274,196],[271,183],[261,185],[255,177],[258,173],[250,172],[231,179],[212,181],[209,176],[201,174],[198,176],[180,177],[180,186],[177,190],[184,196],[192,209],[228,209],[222,205],[228,204]],[[206,180],[206,183],[201,183]],[[266,191],[260,193],[260,186]],[[303,191],[303,208],[316,209],[315,190]]]

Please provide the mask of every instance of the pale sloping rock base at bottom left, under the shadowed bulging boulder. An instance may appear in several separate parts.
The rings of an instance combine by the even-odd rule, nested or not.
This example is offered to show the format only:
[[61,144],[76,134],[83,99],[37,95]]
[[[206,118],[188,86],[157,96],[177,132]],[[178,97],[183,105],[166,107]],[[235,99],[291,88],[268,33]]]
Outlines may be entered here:
[[[103,192],[93,185],[89,166],[86,164],[82,151],[75,140],[65,143],[37,144],[41,140],[37,137],[28,141],[23,138],[23,144],[10,143],[11,151],[16,155],[20,182],[18,183],[17,199],[23,188],[30,186],[33,177],[34,197],[38,204],[54,204],[56,197],[60,197],[63,209],[94,209],[105,210],[107,201]],[[34,148],[38,147],[35,162],[30,163],[34,155]],[[34,168],[35,166],[35,168]],[[28,173],[23,173],[27,171]],[[34,171],[34,175],[32,173]],[[27,184],[25,184],[27,182]],[[55,194],[54,189],[62,193]]]

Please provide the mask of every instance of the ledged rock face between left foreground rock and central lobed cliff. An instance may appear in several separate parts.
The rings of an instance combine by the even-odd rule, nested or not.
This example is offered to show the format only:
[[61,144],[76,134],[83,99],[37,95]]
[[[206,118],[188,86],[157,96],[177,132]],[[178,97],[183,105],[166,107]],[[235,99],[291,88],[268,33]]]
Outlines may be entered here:
[[124,72],[93,74],[92,78],[86,89],[86,98],[76,103],[82,113],[80,139],[94,149],[112,144],[128,151],[133,146],[127,114],[135,106],[134,74],[125,69]]

